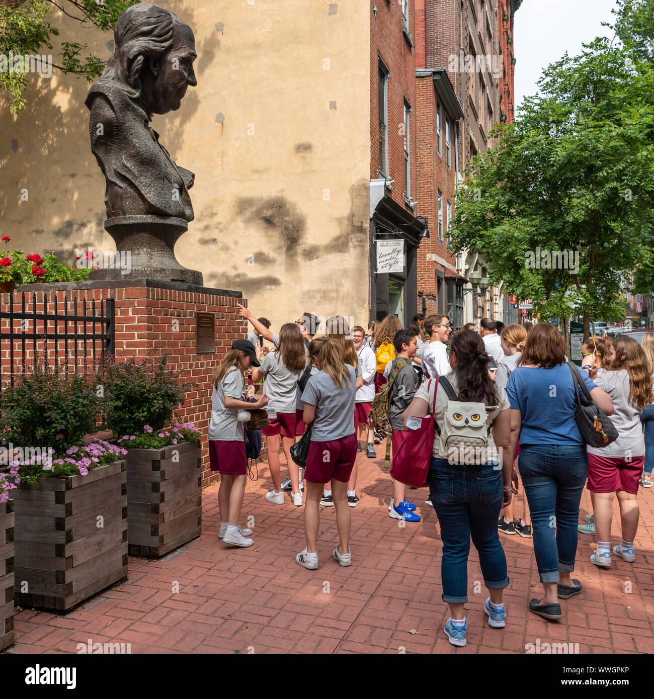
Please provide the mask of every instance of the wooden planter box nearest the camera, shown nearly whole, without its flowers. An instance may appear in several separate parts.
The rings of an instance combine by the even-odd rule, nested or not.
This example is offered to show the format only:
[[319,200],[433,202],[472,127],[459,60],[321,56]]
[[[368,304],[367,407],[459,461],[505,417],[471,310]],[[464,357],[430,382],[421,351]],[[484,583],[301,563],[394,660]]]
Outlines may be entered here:
[[22,607],[68,610],[127,577],[125,461],[85,476],[20,483],[12,494],[15,600]]

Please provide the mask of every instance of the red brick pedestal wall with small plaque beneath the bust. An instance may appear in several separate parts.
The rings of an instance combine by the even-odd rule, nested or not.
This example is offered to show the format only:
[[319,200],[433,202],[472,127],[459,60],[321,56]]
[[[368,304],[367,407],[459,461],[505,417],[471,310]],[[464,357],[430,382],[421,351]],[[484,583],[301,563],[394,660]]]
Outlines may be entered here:
[[[218,480],[218,473],[209,470],[207,429],[211,419],[211,383],[220,359],[229,351],[237,338],[246,338],[248,327],[239,316],[236,303],[243,301],[240,291],[225,291],[196,287],[190,284],[157,282],[155,280],[129,280],[120,282],[65,282],[61,284],[27,284],[13,293],[14,309],[20,308],[22,291],[36,291],[37,312],[48,304],[48,312],[55,310],[55,296],[59,313],[62,312],[64,296],[69,301],[78,301],[78,310],[84,299],[87,303],[95,299],[115,299],[115,357],[118,361],[129,356],[143,356],[148,352],[155,355],[168,354],[168,363],[180,373],[184,380],[197,386],[185,394],[185,403],[178,414],[185,422],[193,422],[202,438],[202,485]],[[29,310],[31,311],[31,293]],[[9,310],[9,294],[1,294],[0,308]],[[197,311],[215,314],[215,353],[197,354],[195,347],[195,314]],[[8,324],[7,320],[2,321]],[[63,322],[58,332],[63,332]],[[69,323],[72,326],[73,322]],[[81,324],[79,324],[81,325]],[[16,327],[20,329],[20,323]],[[42,327],[37,322],[37,331]],[[51,330],[50,330],[51,331]],[[72,328],[69,327],[69,333]],[[61,343],[58,340],[58,343]],[[48,355],[53,357],[50,340]],[[71,342],[69,341],[69,349]],[[61,347],[59,348],[61,350]],[[37,352],[43,352],[43,343],[37,343]],[[78,352],[83,355],[83,346],[78,342]],[[31,343],[27,361],[31,361]],[[1,347],[3,380],[7,380],[9,362],[7,347]]]

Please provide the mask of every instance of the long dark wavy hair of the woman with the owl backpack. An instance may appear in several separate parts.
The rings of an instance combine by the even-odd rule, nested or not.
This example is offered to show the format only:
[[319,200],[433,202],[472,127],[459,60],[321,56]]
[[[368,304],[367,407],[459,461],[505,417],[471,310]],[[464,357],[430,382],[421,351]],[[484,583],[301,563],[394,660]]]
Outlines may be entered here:
[[488,375],[490,356],[486,354],[481,336],[472,330],[461,330],[454,336],[451,351],[457,356],[459,394],[471,402],[495,405],[495,381]]

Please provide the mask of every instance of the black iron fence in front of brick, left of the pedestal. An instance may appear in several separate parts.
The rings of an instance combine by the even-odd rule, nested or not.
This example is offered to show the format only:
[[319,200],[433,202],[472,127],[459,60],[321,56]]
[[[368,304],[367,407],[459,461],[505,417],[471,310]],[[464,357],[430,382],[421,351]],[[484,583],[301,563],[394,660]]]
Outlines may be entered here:
[[[0,304],[0,357],[3,380],[10,374],[13,386],[17,373],[34,361],[62,362],[69,370],[80,363],[103,361],[114,352],[115,307],[113,298],[59,299],[57,292],[23,291],[21,300]],[[60,293],[60,292],[59,292]],[[39,294],[40,295],[40,294]],[[30,308],[31,307],[31,308]]]

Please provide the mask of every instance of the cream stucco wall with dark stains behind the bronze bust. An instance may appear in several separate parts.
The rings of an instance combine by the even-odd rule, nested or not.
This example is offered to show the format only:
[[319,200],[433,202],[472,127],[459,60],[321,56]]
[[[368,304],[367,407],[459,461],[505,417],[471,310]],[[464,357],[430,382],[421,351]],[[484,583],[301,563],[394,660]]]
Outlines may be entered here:
[[[243,291],[276,328],[305,310],[366,321],[369,3],[165,6],[190,24],[198,53],[198,86],[178,112],[152,123],[196,175],[195,219],[176,245],[178,260],[208,286]],[[82,36],[108,58],[111,34],[63,19],[64,40]],[[69,260],[89,245],[114,249],[90,152],[87,89],[56,71],[50,80],[30,76],[18,118],[0,96],[0,232],[11,245]],[[20,201],[24,187],[28,201]]]

